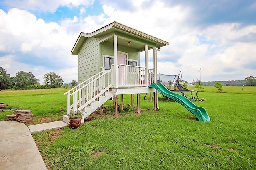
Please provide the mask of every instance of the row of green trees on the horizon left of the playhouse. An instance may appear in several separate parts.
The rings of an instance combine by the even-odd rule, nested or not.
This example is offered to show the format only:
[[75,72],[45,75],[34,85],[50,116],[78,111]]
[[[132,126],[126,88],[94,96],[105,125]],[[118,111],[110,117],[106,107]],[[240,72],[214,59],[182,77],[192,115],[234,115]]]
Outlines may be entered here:
[[[7,70],[0,67],[0,90],[1,89],[43,89],[43,88],[61,88],[63,86],[62,78],[54,73],[48,72],[44,75],[44,84],[40,84],[40,80],[37,79],[32,72],[20,71],[16,73],[15,77],[11,77],[7,73]],[[73,80],[70,82],[71,86],[76,86],[77,82]]]

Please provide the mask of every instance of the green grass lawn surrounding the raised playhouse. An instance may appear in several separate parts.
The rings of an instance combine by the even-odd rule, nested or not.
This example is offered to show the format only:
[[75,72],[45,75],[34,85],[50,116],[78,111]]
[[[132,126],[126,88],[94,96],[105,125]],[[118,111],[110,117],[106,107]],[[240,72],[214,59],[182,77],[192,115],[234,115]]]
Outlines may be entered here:
[[[34,98],[30,93],[3,98],[2,91],[0,102],[35,108],[35,117],[58,116],[63,115],[60,107],[66,106],[65,91]],[[47,99],[40,102],[39,96]],[[190,120],[194,115],[162,97],[158,111],[152,111],[149,95],[146,100],[140,96],[140,115],[128,105],[130,95],[124,95],[126,112],[118,119],[107,112],[78,129],[34,133],[48,169],[256,169],[256,95],[199,92],[199,98],[206,101],[196,104],[206,108],[211,118],[208,123]],[[32,106],[36,103],[44,104]],[[112,101],[107,105],[112,107]],[[5,112],[0,114],[3,120]]]

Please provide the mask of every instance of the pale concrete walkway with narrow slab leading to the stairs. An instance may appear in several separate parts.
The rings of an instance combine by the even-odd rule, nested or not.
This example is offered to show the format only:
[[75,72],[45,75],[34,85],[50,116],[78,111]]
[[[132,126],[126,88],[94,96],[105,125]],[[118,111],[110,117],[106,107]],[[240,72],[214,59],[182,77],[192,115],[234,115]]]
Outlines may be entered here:
[[47,170],[31,133],[68,126],[63,121],[26,126],[17,121],[0,121],[0,169]]

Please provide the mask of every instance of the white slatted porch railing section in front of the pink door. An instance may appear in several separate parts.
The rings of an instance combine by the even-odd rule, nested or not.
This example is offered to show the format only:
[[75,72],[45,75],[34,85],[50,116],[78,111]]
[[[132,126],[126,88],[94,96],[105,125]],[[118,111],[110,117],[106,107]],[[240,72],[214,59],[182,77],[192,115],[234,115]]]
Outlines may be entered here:
[[118,87],[147,87],[145,67],[118,64]]

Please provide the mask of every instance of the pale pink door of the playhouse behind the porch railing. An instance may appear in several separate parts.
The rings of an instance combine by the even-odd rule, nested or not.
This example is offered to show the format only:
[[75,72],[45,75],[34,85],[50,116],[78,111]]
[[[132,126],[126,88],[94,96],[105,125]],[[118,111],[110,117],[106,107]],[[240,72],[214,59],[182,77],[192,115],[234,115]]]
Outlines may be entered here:
[[[126,54],[117,54],[117,63],[126,65]],[[126,66],[118,66],[118,84],[127,84],[126,80]]]

